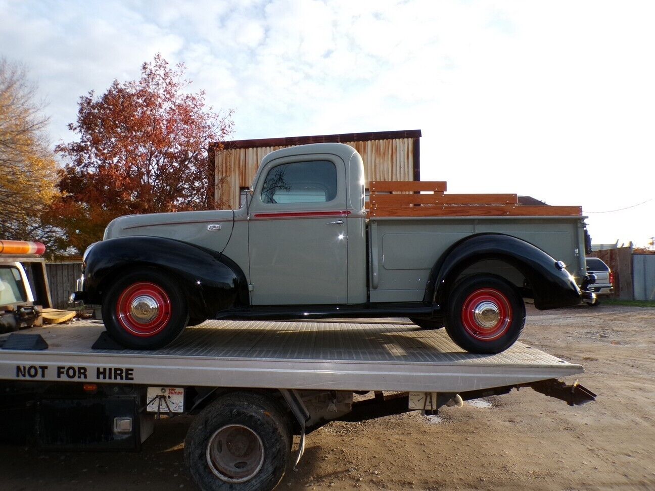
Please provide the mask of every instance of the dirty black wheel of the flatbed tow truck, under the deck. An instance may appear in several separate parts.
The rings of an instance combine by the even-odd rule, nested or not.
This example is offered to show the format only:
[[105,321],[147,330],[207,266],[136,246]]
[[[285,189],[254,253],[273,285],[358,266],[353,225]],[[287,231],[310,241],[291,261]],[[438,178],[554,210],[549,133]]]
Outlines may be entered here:
[[272,490],[289,464],[292,437],[290,421],[270,397],[229,393],[196,416],[184,459],[204,491]]

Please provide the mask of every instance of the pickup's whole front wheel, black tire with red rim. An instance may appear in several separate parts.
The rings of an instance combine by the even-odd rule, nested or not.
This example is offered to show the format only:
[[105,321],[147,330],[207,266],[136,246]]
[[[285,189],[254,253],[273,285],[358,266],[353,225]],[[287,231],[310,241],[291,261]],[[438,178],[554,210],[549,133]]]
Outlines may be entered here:
[[[143,317],[138,318],[135,310],[140,305]],[[153,313],[154,319],[144,321]],[[177,283],[162,272],[144,269],[119,278],[109,287],[102,302],[102,319],[109,337],[122,346],[154,350],[174,341],[189,316]]]

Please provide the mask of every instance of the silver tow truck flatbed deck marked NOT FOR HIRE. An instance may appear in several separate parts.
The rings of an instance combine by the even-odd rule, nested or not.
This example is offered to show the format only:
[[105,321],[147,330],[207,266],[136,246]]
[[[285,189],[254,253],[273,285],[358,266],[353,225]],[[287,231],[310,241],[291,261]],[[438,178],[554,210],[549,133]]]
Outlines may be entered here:
[[497,355],[470,354],[444,329],[424,331],[403,319],[208,321],[156,351],[92,349],[103,331],[98,321],[21,331],[43,336],[49,347],[0,349],[0,379],[459,392],[584,371],[521,342]]

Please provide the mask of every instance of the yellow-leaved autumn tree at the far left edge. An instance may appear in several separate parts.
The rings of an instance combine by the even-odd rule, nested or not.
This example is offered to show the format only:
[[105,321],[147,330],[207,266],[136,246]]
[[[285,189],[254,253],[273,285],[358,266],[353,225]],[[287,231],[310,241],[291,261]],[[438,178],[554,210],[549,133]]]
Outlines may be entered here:
[[0,59],[0,239],[50,243],[55,231],[41,213],[55,196],[56,162],[22,65]]

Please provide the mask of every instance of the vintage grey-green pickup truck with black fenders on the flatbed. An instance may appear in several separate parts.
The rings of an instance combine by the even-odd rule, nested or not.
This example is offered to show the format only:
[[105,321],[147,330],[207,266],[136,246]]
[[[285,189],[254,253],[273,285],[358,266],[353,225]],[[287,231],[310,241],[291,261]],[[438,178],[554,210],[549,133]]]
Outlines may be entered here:
[[549,309],[595,298],[580,207],[447,194],[443,182],[369,189],[367,200],[348,145],[274,151],[243,208],[109,223],[74,299],[102,304],[109,336],[135,349],[204,319],[395,316],[497,353],[520,335],[524,299]]

